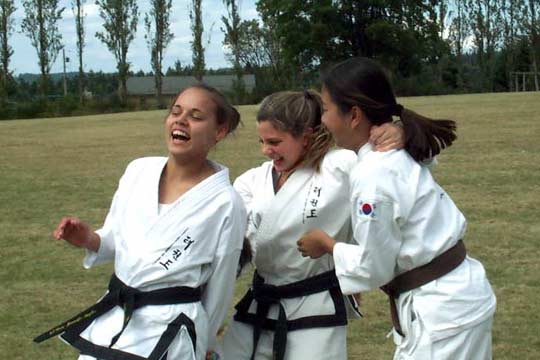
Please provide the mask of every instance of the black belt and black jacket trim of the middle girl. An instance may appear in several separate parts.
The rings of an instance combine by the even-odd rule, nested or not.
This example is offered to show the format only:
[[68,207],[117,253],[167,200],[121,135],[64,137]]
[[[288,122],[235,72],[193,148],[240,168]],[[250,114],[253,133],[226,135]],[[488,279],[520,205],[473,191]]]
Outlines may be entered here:
[[[287,320],[285,308],[281,304],[281,299],[307,296],[323,291],[330,292],[332,300],[334,301],[335,314],[314,315]],[[248,312],[253,300],[257,301],[257,310],[255,314]],[[271,305],[279,306],[277,320],[267,318]],[[274,359],[282,360],[285,356],[288,331],[347,325],[347,312],[345,310],[343,294],[341,293],[339,282],[333,270],[282,286],[265,284],[264,279],[255,272],[253,275],[253,285],[242,300],[236,305],[236,310],[237,312],[234,315],[236,321],[251,324],[253,326],[252,360],[255,358],[255,352],[257,350],[257,344],[262,329],[274,331]]]

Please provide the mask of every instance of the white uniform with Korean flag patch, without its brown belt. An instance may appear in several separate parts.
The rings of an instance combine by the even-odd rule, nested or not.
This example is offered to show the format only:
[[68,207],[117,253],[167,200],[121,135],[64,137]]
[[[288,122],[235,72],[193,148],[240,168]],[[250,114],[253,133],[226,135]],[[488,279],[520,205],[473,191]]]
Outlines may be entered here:
[[[377,289],[427,264],[465,235],[465,218],[452,199],[404,150],[383,153],[364,145],[350,188],[356,244],[338,243],[333,254],[344,294]],[[461,359],[460,352],[470,346],[462,346],[458,338],[474,329],[483,335],[469,358],[491,357],[491,332],[486,329],[491,328],[496,299],[475,259],[467,256],[450,273],[401,294],[396,305],[405,336],[394,331],[395,359]]]

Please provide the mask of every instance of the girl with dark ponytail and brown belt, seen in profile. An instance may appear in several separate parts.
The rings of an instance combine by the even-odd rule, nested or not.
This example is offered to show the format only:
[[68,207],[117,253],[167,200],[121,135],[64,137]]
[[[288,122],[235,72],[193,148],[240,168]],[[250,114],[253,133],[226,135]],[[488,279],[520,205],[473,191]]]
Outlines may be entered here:
[[[333,255],[344,294],[379,287],[388,294],[394,359],[491,359],[495,296],[482,264],[467,256],[464,216],[418,162],[452,144],[455,123],[397,104],[382,68],[366,58],[332,67],[322,101],[322,122],[358,157],[345,180],[354,241],[316,229],[298,250]],[[370,129],[392,116],[403,122],[407,152],[373,151]]]

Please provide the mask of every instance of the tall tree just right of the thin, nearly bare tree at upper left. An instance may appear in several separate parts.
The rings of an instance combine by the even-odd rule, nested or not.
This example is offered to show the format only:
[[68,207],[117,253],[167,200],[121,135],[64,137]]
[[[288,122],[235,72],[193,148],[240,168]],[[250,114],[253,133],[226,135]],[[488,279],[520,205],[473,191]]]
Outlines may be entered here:
[[118,96],[126,101],[126,81],[130,64],[127,61],[129,44],[135,38],[139,9],[137,0],[96,0],[99,15],[103,19],[105,31],[97,32],[96,37],[113,53],[118,70]]

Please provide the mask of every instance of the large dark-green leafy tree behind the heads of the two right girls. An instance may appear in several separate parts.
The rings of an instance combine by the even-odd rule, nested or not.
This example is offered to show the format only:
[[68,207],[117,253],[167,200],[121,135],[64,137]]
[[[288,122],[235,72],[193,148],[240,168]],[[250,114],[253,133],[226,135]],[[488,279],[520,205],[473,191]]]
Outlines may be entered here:
[[[301,74],[350,56],[376,58],[402,76],[420,72],[445,53],[442,0],[259,0],[263,22],[272,19],[283,56]],[[433,5],[439,10],[432,10]],[[444,16],[444,15],[443,15]],[[330,26],[328,24],[331,24]]]

